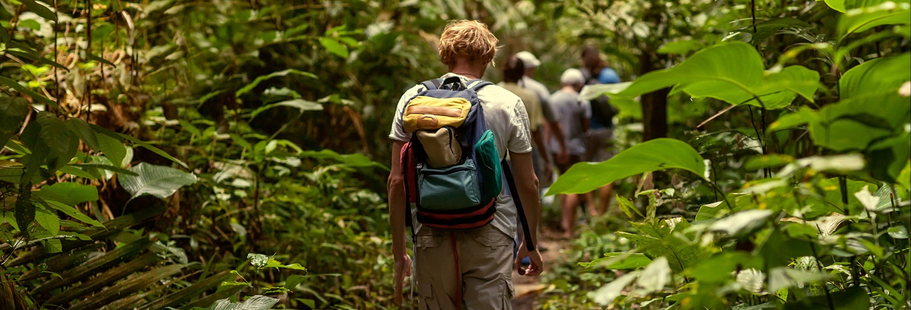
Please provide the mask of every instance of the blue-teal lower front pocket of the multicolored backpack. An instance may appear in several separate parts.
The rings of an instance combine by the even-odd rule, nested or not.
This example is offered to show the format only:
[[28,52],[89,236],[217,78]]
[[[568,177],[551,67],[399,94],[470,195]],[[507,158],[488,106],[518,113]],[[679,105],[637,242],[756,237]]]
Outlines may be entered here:
[[482,193],[475,162],[470,158],[461,165],[443,169],[425,166],[418,180],[421,207],[432,210],[455,210],[481,205]]

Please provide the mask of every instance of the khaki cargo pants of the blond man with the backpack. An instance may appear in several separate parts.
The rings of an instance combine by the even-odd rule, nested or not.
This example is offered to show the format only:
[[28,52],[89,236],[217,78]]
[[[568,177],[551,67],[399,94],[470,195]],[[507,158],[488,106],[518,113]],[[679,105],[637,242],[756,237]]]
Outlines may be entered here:
[[512,309],[513,245],[512,236],[489,224],[421,227],[415,252],[418,309]]

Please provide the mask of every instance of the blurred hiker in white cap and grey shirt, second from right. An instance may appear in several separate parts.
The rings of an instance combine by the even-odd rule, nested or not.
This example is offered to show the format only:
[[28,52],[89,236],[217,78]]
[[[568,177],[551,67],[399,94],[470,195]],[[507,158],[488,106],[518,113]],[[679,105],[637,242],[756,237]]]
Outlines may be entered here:
[[[566,129],[566,145],[568,149],[568,160],[564,163],[558,162],[560,173],[565,173],[570,166],[580,162],[585,155],[585,134],[589,130],[589,120],[591,118],[591,106],[588,101],[579,100],[578,92],[585,85],[585,76],[576,68],[569,68],[560,75],[560,85],[562,87],[550,95],[550,105],[554,108],[554,114],[559,119],[560,125]],[[556,139],[550,140],[550,146],[557,146]],[[576,224],[576,209],[578,208],[579,196],[577,194],[560,195],[561,208],[563,213],[562,226],[564,234],[572,237]]]

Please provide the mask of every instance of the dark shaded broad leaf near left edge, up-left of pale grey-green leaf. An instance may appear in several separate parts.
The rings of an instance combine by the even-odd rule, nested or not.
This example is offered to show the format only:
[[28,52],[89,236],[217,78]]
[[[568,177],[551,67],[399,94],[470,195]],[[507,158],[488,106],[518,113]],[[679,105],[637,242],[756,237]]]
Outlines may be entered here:
[[64,121],[44,111],[38,112],[19,137],[32,151],[28,169],[36,171],[38,165],[46,165],[51,174],[73,159],[79,145],[79,139]]

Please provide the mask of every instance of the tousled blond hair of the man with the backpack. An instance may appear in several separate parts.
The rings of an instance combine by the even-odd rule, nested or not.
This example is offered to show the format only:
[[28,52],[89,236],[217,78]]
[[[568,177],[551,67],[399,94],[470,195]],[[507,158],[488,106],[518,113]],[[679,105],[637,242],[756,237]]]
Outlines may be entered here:
[[440,35],[440,61],[445,65],[455,65],[455,58],[462,56],[494,65],[497,42],[499,40],[484,23],[467,19],[452,21]]

